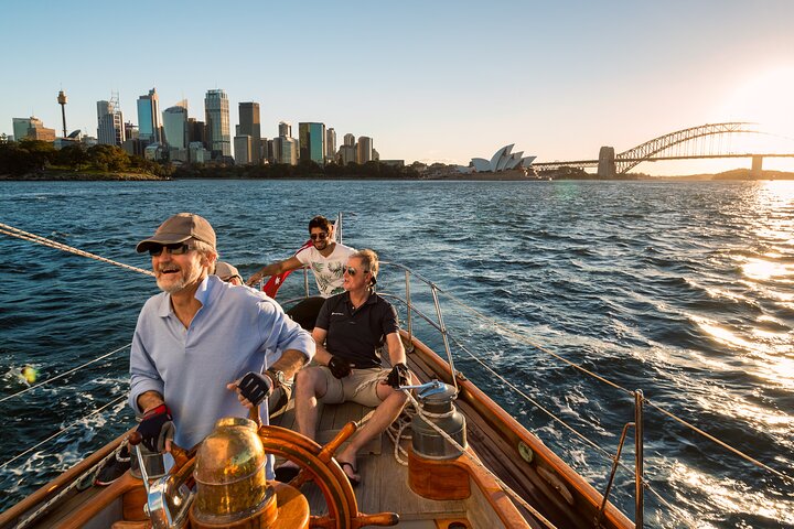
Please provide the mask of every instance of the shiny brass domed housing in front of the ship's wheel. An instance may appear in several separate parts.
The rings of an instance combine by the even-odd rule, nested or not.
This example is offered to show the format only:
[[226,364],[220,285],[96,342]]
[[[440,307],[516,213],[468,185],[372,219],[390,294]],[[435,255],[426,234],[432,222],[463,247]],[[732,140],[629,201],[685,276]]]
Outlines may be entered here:
[[276,494],[267,484],[267,455],[257,424],[229,417],[198,447],[193,477],[196,497],[191,521],[200,526],[228,526],[264,509],[273,509]]

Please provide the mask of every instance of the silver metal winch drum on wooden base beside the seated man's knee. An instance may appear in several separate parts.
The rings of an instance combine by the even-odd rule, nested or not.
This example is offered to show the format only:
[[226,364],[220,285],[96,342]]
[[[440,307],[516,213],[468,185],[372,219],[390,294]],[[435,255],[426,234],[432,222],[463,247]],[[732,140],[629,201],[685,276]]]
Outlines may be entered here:
[[452,386],[433,380],[417,389],[419,412],[411,420],[414,453],[431,460],[451,460],[462,454],[444,439],[441,430],[460,446],[466,446],[465,418],[454,407],[458,397]]

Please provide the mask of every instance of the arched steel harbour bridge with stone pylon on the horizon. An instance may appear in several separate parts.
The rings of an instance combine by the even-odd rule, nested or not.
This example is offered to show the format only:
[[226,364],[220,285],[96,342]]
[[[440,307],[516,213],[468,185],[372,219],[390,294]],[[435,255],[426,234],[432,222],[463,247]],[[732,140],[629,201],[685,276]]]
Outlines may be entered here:
[[598,160],[536,162],[532,165],[540,171],[598,168],[600,176],[612,177],[627,173],[640,163],[663,160],[748,158],[752,160],[752,171],[760,172],[764,158],[794,158],[794,153],[736,152],[731,144],[737,134],[772,136],[754,127],[755,123],[744,121],[701,125],[654,138],[618,154],[613,148],[602,147]]

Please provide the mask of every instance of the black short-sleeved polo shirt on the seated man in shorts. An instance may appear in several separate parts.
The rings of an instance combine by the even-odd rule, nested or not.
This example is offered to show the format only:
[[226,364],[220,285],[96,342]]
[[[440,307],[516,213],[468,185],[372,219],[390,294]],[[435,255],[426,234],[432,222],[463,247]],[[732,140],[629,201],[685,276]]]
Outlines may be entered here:
[[380,357],[375,349],[384,344],[388,334],[399,330],[395,307],[374,292],[355,311],[348,292],[332,295],[320,309],[314,326],[328,331],[329,353],[358,369],[379,367]]

